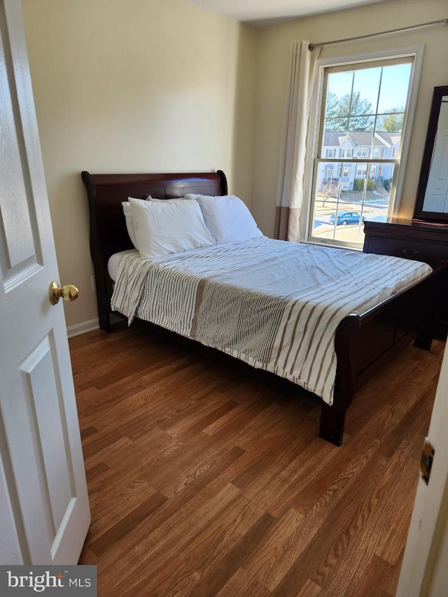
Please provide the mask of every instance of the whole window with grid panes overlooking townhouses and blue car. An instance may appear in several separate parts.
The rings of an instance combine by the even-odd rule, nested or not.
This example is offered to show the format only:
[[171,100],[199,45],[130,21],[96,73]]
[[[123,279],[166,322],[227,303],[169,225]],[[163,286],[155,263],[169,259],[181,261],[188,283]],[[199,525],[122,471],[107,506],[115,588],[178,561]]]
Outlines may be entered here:
[[[377,53],[344,64],[318,60],[315,91],[321,100],[308,134],[308,241],[362,248],[363,220],[384,221],[395,213],[421,51]],[[348,212],[358,216],[339,226],[338,213]]]

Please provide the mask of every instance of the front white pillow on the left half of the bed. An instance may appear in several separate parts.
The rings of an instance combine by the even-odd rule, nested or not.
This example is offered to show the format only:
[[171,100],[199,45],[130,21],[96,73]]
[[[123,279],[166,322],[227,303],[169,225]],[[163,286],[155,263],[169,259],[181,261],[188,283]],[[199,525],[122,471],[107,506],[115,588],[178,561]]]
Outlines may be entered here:
[[215,244],[194,199],[143,201],[130,197],[141,258],[155,258]]

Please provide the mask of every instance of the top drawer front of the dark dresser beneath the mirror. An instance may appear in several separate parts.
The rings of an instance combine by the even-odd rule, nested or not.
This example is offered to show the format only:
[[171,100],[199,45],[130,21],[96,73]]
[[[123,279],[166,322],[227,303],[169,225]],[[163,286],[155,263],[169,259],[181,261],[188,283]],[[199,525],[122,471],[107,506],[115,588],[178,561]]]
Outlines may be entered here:
[[393,239],[369,235],[364,247],[365,253],[393,255],[428,263],[435,267],[442,259],[448,258],[447,245],[430,244],[415,239]]

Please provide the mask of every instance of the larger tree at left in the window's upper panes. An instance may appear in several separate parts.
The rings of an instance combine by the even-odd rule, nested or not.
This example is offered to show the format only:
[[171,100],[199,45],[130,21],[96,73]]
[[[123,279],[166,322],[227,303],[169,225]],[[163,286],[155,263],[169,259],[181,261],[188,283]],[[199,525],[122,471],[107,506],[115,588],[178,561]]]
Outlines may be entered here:
[[325,130],[326,131],[372,131],[372,103],[367,99],[361,99],[360,91],[353,95],[346,93],[337,97],[335,93],[328,93],[325,106]]

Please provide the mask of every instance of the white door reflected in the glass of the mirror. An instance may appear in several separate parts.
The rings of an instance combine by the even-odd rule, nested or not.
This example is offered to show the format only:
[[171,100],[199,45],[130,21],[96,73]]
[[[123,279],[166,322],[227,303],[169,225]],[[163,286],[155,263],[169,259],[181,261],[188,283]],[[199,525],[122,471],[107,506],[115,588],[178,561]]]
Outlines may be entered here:
[[426,185],[425,211],[448,212],[448,96],[442,97],[433,157]]

